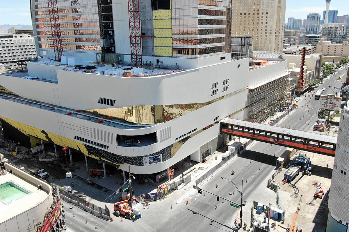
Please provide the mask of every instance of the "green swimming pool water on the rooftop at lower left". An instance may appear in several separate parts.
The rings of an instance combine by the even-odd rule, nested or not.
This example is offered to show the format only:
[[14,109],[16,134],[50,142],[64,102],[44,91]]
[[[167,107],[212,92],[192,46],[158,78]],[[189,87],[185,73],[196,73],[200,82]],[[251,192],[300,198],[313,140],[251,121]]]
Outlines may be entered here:
[[28,193],[28,191],[22,189],[20,186],[15,185],[12,182],[0,184],[0,200],[5,204],[23,197]]

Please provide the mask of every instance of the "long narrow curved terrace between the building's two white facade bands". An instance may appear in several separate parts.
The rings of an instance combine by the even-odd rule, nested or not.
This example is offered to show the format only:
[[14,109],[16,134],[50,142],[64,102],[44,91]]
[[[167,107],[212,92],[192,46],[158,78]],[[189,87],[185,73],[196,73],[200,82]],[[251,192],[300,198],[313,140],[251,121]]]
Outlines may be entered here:
[[145,128],[145,127],[154,126],[151,124],[149,124],[149,125],[148,124],[147,125],[126,124],[126,123],[118,122],[118,121],[116,121],[117,119],[114,119],[114,118],[104,119],[104,118],[100,117],[101,115],[88,113],[88,112],[80,113],[80,112],[77,112],[73,109],[68,109],[68,108],[63,109],[63,108],[59,108],[59,107],[55,107],[55,106],[49,106],[49,105],[46,105],[43,103],[29,101],[27,99],[23,99],[20,97],[12,97],[12,96],[0,94],[0,98],[6,99],[6,100],[12,101],[12,102],[17,102],[20,104],[26,104],[26,105],[29,105],[32,107],[37,107],[37,108],[40,108],[43,110],[53,111],[53,112],[59,113],[59,114],[69,115],[70,117],[74,117],[74,118],[79,118],[79,119],[83,119],[83,120],[87,120],[87,121],[91,121],[91,122],[96,122],[98,124],[102,124],[105,126],[120,128],[120,129],[138,129],[138,128]]

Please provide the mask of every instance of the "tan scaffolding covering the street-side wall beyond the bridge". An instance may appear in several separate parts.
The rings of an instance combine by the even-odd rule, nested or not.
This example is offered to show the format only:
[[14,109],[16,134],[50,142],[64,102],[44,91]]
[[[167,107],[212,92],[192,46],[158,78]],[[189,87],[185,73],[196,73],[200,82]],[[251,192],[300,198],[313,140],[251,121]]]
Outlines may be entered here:
[[289,75],[248,89],[247,121],[262,122],[287,106],[289,99]]

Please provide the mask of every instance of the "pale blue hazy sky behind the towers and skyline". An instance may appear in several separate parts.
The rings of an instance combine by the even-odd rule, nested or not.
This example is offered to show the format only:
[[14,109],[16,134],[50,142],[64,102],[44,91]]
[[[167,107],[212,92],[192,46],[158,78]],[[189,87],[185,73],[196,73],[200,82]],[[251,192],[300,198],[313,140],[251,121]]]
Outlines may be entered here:
[[[31,25],[29,0],[0,0],[0,5],[0,25]],[[288,17],[304,19],[309,13],[319,13],[322,17],[324,10],[325,0],[287,0],[285,22]],[[349,14],[349,0],[332,0],[330,10],[338,10],[338,15]]]

